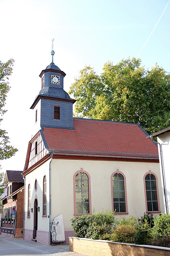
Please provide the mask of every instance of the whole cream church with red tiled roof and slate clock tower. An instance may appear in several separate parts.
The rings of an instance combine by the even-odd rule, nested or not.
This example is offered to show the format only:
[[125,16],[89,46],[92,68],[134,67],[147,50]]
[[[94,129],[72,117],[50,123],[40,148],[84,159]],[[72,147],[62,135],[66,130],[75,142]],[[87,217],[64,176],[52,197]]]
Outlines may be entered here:
[[138,124],[73,118],[74,99],[63,90],[65,73],[52,62],[31,109],[25,175],[24,239],[51,244],[51,225],[110,209],[140,217],[164,211],[157,146]]

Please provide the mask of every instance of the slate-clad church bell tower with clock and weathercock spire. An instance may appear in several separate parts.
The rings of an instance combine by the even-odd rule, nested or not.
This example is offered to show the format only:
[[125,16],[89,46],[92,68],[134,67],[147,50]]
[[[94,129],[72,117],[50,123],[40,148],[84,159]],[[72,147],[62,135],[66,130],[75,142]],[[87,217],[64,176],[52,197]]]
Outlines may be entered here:
[[54,53],[52,41],[52,62],[40,74],[41,90],[31,106],[35,114],[34,134],[44,127],[74,129],[75,100],[63,89],[66,74],[53,63]]

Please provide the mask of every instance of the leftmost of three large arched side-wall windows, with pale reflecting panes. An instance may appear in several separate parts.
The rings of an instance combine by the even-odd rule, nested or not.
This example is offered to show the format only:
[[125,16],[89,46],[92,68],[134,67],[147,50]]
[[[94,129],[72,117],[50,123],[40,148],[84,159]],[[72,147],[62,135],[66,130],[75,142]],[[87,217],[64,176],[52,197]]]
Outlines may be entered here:
[[74,174],[74,214],[91,214],[90,175],[83,171]]

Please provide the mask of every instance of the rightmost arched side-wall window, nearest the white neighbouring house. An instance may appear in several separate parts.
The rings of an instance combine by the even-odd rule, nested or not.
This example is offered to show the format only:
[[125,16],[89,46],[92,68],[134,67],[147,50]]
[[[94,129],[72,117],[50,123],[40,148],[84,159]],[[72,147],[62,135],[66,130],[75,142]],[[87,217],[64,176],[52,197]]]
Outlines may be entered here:
[[144,176],[146,212],[160,211],[156,178],[156,175],[151,173],[151,171]]

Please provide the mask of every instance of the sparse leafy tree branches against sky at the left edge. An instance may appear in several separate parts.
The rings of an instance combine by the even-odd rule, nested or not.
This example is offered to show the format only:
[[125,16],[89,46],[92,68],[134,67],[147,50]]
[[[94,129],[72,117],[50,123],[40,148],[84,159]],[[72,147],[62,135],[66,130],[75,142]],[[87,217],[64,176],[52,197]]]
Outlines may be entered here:
[[[12,73],[13,64],[13,59],[8,60],[6,63],[0,61],[0,116],[3,116],[3,114],[7,112],[4,106],[7,93],[10,90],[8,80]],[[2,120],[1,118],[0,122]],[[0,160],[10,158],[18,151],[16,148],[9,145],[10,142],[7,134],[6,130],[0,129]]]

